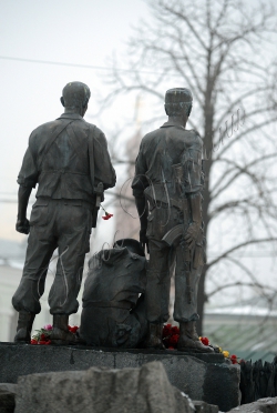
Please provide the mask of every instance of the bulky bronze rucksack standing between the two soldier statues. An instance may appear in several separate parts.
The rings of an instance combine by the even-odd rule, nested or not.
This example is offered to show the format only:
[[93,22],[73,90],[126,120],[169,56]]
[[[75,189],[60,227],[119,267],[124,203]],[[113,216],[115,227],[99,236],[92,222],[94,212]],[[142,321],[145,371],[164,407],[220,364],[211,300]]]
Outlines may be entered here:
[[88,345],[135,349],[145,338],[146,259],[138,241],[120,240],[89,262],[80,338]]

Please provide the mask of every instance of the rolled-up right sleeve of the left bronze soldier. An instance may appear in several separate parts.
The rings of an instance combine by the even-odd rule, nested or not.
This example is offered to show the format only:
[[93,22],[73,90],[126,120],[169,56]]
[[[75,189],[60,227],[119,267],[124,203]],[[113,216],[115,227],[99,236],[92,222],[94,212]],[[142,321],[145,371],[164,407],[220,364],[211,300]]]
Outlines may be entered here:
[[116,174],[107,151],[107,143],[104,133],[96,127],[93,130],[93,140],[90,143],[91,180],[96,187],[100,182],[104,189],[113,188],[116,182]]

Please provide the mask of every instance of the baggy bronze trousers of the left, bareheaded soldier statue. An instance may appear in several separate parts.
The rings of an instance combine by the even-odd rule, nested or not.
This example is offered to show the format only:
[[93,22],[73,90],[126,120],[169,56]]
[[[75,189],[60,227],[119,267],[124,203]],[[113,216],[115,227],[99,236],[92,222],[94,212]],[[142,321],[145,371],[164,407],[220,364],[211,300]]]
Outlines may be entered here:
[[78,311],[85,253],[90,251],[92,206],[83,201],[38,199],[30,219],[23,274],[12,298],[17,311],[40,313],[49,263],[58,249],[57,271],[49,293],[51,314]]

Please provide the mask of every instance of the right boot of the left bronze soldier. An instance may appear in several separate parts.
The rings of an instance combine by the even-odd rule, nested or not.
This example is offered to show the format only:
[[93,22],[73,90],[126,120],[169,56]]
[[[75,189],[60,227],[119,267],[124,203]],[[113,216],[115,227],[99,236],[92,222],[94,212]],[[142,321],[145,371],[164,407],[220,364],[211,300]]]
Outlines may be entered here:
[[69,314],[53,314],[53,329],[50,334],[51,344],[76,344],[78,338],[69,331]]

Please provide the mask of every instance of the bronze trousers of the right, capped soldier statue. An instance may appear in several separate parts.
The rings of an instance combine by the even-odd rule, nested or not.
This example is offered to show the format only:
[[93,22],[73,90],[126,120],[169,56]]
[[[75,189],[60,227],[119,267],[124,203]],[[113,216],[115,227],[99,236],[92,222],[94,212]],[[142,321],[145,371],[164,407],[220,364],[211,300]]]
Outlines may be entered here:
[[147,238],[150,262],[146,282],[146,316],[148,322],[168,320],[171,275],[175,268],[175,302],[173,318],[177,322],[198,320],[197,290],[202,265],[193,268],[191,251],[185,242],[168,246],[163,236],[183,223],[181,211],[174,206],[154,208],[148,215]]

